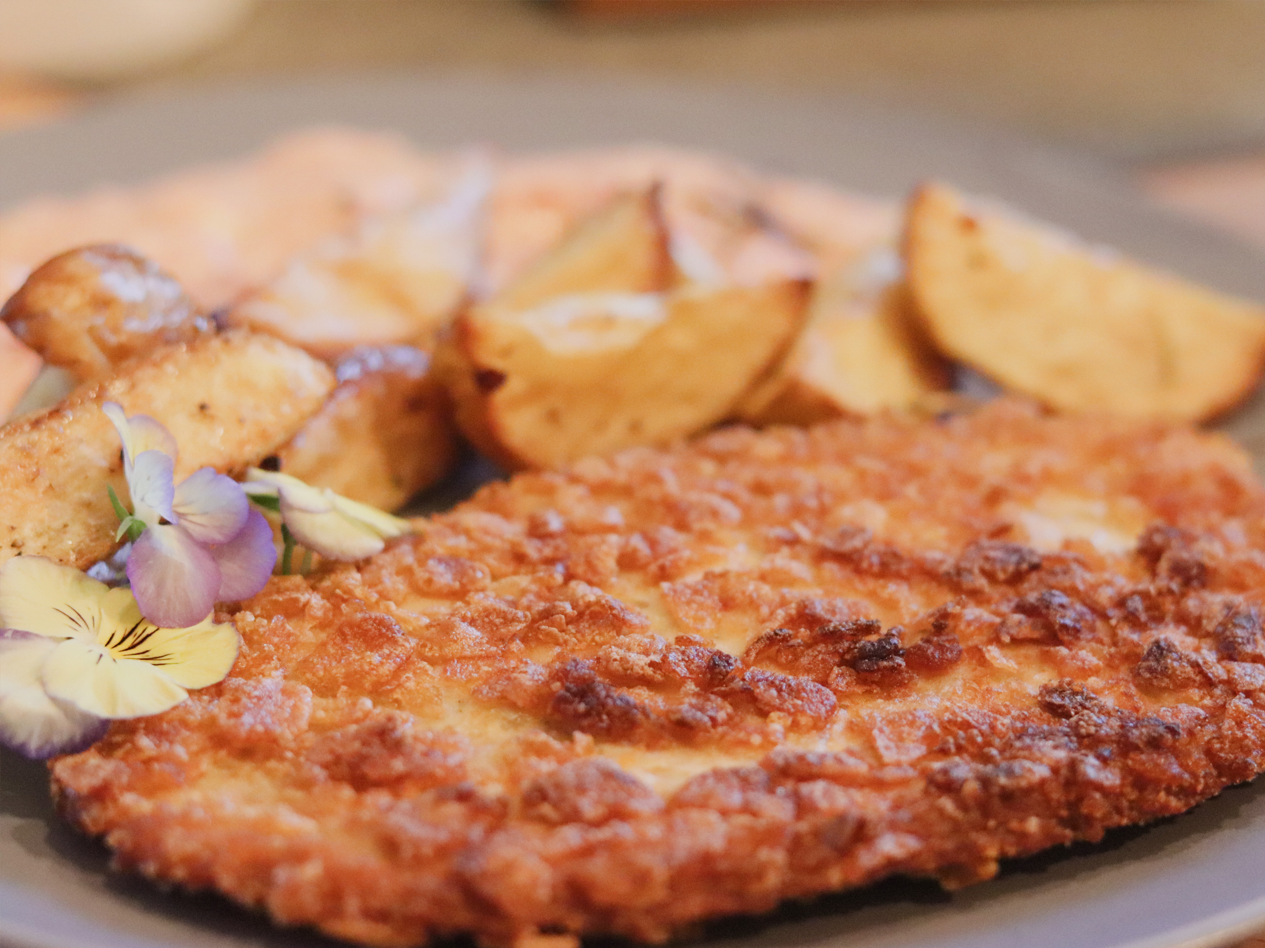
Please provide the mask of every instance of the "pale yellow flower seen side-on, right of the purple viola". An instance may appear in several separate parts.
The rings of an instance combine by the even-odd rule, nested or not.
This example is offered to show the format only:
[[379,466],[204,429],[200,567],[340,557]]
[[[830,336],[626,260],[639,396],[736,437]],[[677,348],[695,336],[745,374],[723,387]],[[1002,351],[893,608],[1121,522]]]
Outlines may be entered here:
[[381,551],[391,537],[412,530],[409,521],[377,507],[278,471],[250,468],[245,490],[256,503],[272,499],[293,540],[329,560],[363,560]]

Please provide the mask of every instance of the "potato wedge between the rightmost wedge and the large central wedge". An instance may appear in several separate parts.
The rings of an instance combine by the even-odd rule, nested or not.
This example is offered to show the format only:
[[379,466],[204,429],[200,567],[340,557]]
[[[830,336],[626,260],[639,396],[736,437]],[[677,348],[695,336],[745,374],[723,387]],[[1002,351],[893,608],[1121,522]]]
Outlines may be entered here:
[[753,425],[812,425],[908,408],[949,386],[944,360],[913,325],[889,245],[813,287],[808,319],[773,374],[739,404]]

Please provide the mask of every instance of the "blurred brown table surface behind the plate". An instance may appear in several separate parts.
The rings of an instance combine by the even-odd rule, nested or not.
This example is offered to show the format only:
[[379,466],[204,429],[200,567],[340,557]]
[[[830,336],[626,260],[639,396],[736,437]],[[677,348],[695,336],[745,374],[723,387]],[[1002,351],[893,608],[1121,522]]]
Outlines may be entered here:
[[1156,200],[1265,246],[1265,3],[654,5],[584,16],[546,0],[261,0],[228,40],[147,76],[92,87],[0,76],[0,134],[139,88],[383,68],[839,91],[1128,163]]

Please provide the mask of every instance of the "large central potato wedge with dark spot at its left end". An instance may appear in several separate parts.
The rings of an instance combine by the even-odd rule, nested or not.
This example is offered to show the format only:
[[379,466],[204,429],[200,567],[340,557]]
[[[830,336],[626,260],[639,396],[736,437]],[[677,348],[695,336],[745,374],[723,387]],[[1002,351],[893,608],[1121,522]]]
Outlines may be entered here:
[[586,293],[458,317],[436,369],[509,468],[665,444],[727,417],[798,331],[807,284]]

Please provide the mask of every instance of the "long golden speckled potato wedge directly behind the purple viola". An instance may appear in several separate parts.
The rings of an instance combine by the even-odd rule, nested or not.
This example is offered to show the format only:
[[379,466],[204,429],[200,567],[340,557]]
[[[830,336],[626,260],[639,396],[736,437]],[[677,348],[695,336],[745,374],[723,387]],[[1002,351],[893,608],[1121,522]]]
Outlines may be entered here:
[[0,561],[47,556],[86,569],[116,546],[106,485],[126,501],[119,436],[101,411],[149,415],[180,445],[177,483],[235,474],[275,453],[334,388],[326,365],[268,336],[228,332],[164,348],[0,428]]

